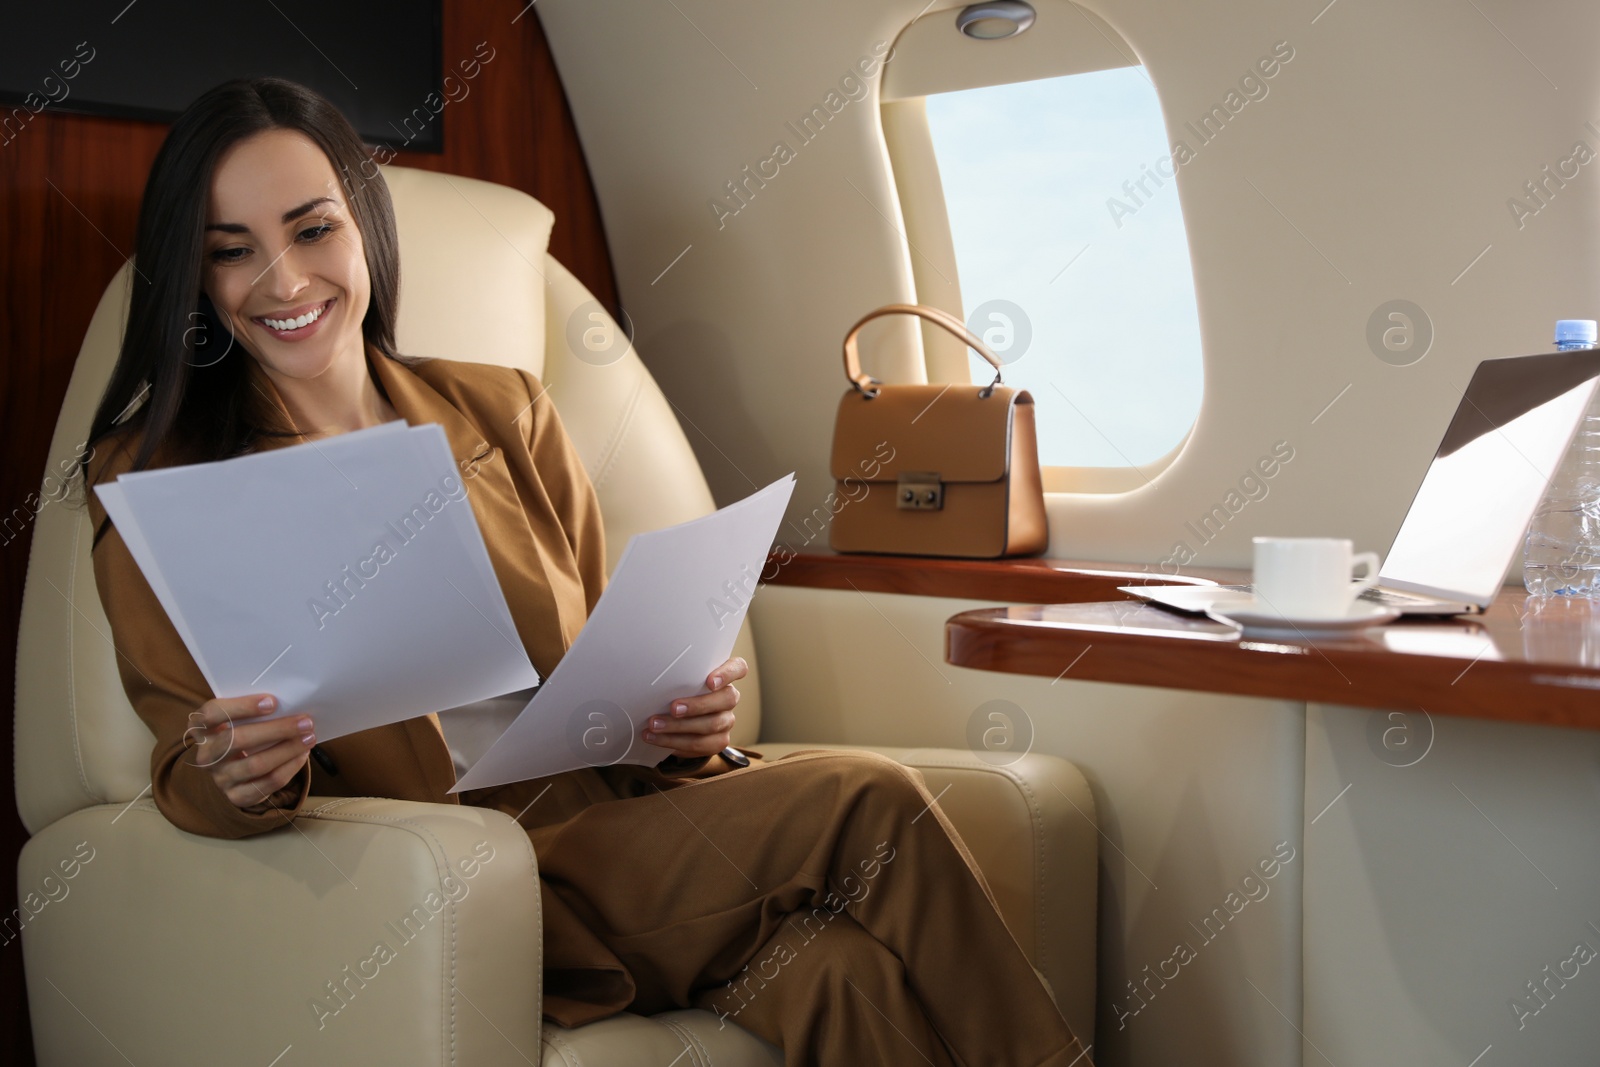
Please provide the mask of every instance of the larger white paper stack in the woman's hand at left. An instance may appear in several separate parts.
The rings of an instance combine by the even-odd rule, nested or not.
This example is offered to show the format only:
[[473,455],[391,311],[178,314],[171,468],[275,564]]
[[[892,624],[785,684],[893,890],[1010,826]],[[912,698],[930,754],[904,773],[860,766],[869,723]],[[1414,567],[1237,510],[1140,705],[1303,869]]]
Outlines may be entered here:
[[395,421],[96,493],[211,691],[331,741],[539,683],[467,485]]

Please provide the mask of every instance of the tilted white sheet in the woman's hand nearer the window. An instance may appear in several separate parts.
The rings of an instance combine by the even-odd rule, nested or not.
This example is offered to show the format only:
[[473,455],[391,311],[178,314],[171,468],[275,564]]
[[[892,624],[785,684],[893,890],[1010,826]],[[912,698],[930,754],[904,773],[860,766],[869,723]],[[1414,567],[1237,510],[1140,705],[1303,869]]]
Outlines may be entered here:
[[635,534],[562,662],[451,792],[674,755],[645,723],[728,659],[794,485]]

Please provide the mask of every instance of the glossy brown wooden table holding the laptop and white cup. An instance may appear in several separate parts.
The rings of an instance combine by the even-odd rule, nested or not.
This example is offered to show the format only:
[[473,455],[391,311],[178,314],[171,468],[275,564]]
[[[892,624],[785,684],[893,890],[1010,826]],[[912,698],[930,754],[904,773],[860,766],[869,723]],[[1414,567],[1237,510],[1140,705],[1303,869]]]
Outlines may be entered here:
[[1139,600],[946,622],[958,667],[1600,729],[1600,603],[1506,590],[1482,616],[1251,637]]

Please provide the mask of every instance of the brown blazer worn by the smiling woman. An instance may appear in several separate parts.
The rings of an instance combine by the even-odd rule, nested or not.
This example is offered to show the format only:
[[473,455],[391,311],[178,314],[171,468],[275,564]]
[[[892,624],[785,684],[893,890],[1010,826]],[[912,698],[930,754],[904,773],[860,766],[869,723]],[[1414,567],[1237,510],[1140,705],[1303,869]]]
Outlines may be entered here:
[[[438,422],[461,464],[472,510],[528,656],[547,675],[578,633],[605,584],[605,541],[594,490],[531,374],[432,360],[414,371],[373,357],[374,378],[406,422]],[[280,410],[283,402],[259,365],[251,378]],[[293,426],[283,410],[285,426]],[[482,429],[478,429],[482,427]],[[98,448],[90,482],[115,478],[131,464],[139,434]],[[261,450],[293,438],[262,438]],[[162,466],[160,461],[155,466]],[[96,530],[106,517],[90,493]],[[94,581],[118,653],[123,688],[155,734],[150,784],[157,806],[179,829],[240,838],[285,825],[278,811],[235,808],[211,774],[187,757],[189,713],[213,694],[182,638],[133,561],[115,526],[94,549]],[[293,803],[310,793],[395,797],[456,803],[450,749],[437,717],[366,729],[320,745],[338,774],[317,760],[294,779]],[[290,795],[283,790],[278,800]]]

